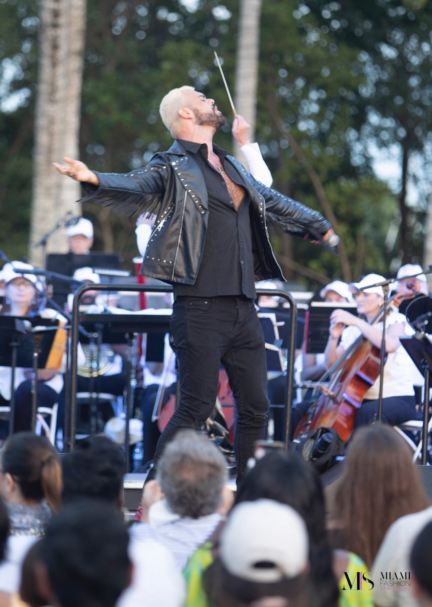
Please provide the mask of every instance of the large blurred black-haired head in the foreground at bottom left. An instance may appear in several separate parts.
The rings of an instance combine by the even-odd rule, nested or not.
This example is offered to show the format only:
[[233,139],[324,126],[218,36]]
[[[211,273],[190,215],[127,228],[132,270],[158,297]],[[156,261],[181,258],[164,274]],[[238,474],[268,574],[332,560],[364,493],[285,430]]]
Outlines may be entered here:
[[129,535],[109,504],[67,504],[41,543],[41,594],[55,607],[114,607],[130,583]]

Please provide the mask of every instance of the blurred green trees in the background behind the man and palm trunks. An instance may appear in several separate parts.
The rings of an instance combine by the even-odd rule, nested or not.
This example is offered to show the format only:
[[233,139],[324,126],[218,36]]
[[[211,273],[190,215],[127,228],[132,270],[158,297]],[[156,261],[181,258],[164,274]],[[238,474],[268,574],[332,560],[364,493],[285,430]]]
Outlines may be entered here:
[[[41,2],[0,0],[0,249],[13,259],[27,254]],[[99,171],[127,172],[166,149],[171,138],[158,104],[182,84],[215,98],[231,123],[214,50],[234,87],[238,4],[88,0],[81,160]],[[426,0],[262,5],[255,139],[273,187],[323,211],[314,172],[354,279],[370,271],[390,275],[401,260],[422,260],[431,25]],[[232,149],[229,125],[215,140]],[[390,187],[374,164],[395,150],[401,177]],[[113,250],[132,269],[133,220],[91,204],[83,213],[95,225],[93,250]],[[339,257],[277,232],[271,238],[289,279],[316,287],[341,276]]]

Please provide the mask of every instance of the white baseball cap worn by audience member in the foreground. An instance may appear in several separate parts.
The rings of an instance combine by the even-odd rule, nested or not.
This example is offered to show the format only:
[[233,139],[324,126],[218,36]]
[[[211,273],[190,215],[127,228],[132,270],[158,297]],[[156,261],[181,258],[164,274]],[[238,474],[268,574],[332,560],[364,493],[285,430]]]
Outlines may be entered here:
[[294,508],[277,501],[241,502],[222,531],[219,554],[231,575],[249,582],[297,577],[308,565],[305,521]]

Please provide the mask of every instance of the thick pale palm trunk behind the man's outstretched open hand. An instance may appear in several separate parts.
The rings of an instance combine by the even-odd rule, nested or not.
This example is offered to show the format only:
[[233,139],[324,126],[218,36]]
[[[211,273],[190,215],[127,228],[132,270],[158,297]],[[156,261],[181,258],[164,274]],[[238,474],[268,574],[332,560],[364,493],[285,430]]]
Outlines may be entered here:
[[[62,156],[78,158],[78,133],[83,77],[86,0],[42,0],[39,33],[39,78],[36,98],[35,157],[29,257],[41,265],[41,237],[67,211],[81,214],[75,201],[78,183],[52,167]],[[58,229],[47,251],[65,253],[66,234]]]

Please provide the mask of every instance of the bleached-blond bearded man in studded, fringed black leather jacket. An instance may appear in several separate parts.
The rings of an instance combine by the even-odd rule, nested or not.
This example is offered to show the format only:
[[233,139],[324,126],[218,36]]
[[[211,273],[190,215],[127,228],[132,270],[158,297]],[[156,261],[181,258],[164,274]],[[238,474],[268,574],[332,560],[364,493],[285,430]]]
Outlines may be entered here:
[[99,173],[71,158],[54,164],[82,181],[84,200],[127,215],[157,212],[141,273],[171,283],[180,402],[162,433],[155,463],[179,428],[200,430],[211,414],[222,363],[237,406],[237,481],[265,431],[269,400],[265,342],[254,307],[255,280],[285,280],[267,226],[312,240],[334,232],[317,211],[255,180],[213,144],[226,123],[213,99],[193,87],[173,89],[160,115],[174,143],[146,167]]

